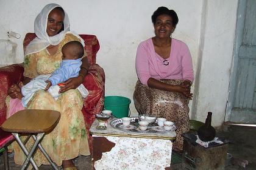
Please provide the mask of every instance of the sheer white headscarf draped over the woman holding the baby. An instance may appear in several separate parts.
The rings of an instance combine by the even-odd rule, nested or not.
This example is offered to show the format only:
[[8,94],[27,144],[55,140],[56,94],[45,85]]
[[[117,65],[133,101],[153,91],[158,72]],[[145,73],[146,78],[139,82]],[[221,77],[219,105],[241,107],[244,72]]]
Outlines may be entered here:
[[[56,7],[61,7],[61,6],[58,4],[45,5],[45,7],[43,7],[41,12],[37,15],[37,18],[35,18],[34,29],[37,37],[33,39],[33,41],[31,41],[29,45],[26,47],[26,50],[24,52],[25,56],[31,53],[40,52],[41,50],[45,49],[50,45],[52,46],[58,45],[60,42],[62,42],[63,38],[65,38],[66,33],[72,33],[73,35],[80,38],[80,36],[77,35],[76,33],[69,31],[69,25],[70,25],[69,18],[65,10],[64,10],[65,17],[63,21],[64,30],[62,30],[62,32],[58,33],[57,35],[48,36],[48,33],[46,32],[48,15]],[[82,38],[80,38],[80,40],[82,45],[85,46],[84,40]]]

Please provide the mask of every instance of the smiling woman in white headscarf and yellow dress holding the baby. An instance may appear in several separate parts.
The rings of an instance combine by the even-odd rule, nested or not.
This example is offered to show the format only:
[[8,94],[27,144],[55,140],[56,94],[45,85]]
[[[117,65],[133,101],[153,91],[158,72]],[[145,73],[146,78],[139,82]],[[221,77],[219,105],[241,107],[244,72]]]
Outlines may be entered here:
[[[25,50],[24,81],[19,86],[13,85],[9,89],[7,106],[10,98],[21,99],[21,86],[41,74],[49,74],[59,67],[62,61],[62,47],[69,41],[80,41],[82,38],[69,31],[68,15],[58,4],[48,4],[35,19],[35,38]],[[42,144],[52,160],[64,169],[76,169],[73,158],[90,155],[84,117],[82,115],[82,96],[76,89],[84,81],[89,67],[87,57],[82,59],[79,76],[70,78],[60,90],[60,98],[54,100],[52,96],[40,90],[27,104],[27,109],[57,110],[61,113],[59,124],[54,131],[43,138]],[[10,106],[13,107],[13,106]],[[10,110],[10,108],[9,108]],[[8,114],[8,113],[7,113]],[[27,146],[31,146],[31,142]],[[18,144],[13,144],[15,163],[22,165],[25,155]],[[44,155],[37,151],[34,157],[38,166],[49,164]]]

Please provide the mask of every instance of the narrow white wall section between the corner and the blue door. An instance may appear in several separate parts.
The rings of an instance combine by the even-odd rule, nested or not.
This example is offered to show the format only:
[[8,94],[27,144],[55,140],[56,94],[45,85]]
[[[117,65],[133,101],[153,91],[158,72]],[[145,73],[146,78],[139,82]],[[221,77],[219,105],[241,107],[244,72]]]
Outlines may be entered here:
[[204,26],[201,30],[201,50],[193,104],[195,119],[204,121],[213,112],[212,124],[224,121],[238,1],[205,1]]

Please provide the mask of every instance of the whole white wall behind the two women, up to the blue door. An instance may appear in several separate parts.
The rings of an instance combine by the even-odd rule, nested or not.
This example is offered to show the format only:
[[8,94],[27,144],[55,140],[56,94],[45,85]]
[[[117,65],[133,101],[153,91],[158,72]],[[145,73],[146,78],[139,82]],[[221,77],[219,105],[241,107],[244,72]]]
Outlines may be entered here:
[[[190,101],[190,116],[204,120],[207,111],[211,110],[213,114],[218,113],[218,117],[213,118],[213,124],[222,123],[229,85],[237,0],[0,0],[0,39],[7,39],[6,32],[9,30],[21,35],[20,39],[11,38],[18,44],[16,63],[23,62],[24,35],[34,32],[35,16],[50,2],[56,2],[66,10],[71,20],[71,30],[98,36],[101,49],[97,63],[105,70],[105,95],[122,95],[130,99],[137,81],[137,46],[154,36],[151,15],[162,5],[174,9],[179,16],[179,24],[173,37],[188,44],[197,78],[193,86],[193,102]],[[215,74],[212,74],[213,70]],[[224,86],[224,90],[220,90],[220,86]],[[137,112],[133,102],[130,108],[132,115],[135,115]]]

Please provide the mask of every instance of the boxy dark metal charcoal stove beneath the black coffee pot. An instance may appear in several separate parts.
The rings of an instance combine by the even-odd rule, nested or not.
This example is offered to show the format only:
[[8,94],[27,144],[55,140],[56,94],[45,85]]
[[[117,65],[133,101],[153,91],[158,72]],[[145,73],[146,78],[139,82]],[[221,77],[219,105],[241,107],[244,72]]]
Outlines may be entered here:
[[[215,138],[215,141],[204,144],[196,143],[197,133],[188,132],[183,137],[182,169],[221,170],[225,168],[229,141]],[[218,141],[218,143],[216,142]]]

